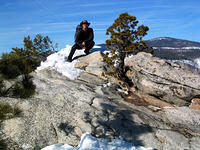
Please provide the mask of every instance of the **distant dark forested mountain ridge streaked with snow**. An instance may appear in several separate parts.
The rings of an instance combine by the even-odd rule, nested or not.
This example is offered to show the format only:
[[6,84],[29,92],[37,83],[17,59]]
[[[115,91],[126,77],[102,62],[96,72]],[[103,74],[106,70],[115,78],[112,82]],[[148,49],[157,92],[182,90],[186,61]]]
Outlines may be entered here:
[[[200,58],[200,42],[158,37],[146,40],[148,46],[153,47],[154,56],[170,60],[194,60]],[[106,49],[105,44],[99,44]]]

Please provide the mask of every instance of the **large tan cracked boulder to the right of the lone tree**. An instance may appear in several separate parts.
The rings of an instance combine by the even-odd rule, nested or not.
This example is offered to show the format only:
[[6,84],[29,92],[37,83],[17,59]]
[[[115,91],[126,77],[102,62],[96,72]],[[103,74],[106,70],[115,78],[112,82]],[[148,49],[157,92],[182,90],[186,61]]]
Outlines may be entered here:
[[142,92],[178,106],[200,96],[200,75],[173,62],[140,52],[126,60],[127,73]]

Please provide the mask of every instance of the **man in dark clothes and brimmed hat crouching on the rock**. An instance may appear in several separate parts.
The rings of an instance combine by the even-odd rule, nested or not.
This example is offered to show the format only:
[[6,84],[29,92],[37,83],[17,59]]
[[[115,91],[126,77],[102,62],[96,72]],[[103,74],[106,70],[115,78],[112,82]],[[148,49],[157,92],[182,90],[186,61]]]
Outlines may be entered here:
[[92,28],[88,28],[89,25],[90,23],[87,20],[83,20],[80,23],[81,29],[76,34],[75,44],[72,46],[71,52],[67,58],[68,62],[72,62],[72,57],[76,49],[84,49],[85,54],[88,55],[90,49],[94,46],[94,33]]

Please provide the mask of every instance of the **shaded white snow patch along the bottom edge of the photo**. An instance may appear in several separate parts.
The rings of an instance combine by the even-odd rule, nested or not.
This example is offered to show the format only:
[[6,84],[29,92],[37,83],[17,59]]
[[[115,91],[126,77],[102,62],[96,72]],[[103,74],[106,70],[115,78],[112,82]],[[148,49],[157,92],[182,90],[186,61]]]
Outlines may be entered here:
[[131,143],[125,142],[121,137],[110,142],[108,139],[101,140],[89,133],[85,133],[82,135],[80,144],[77,147],[72,147],[68,144],[55,144],[47,146],[42,150],[153,150],[153,148],[134,146]]

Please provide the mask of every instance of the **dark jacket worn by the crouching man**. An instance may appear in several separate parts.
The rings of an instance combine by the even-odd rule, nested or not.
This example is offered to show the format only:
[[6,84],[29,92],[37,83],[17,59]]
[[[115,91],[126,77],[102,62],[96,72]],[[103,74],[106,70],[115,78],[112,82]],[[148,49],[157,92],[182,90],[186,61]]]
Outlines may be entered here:
[[83,30],[78,31],[75,43],[82,47],[82,42],[90,43],[94,40],[94,32],[92,28],[88,28],[86,32]]

